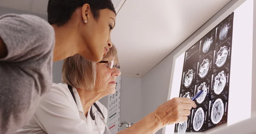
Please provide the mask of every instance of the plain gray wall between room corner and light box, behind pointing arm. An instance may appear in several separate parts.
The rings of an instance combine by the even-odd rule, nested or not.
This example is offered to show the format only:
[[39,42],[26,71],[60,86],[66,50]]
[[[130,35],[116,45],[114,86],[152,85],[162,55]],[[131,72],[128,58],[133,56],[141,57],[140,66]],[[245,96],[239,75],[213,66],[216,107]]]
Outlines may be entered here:
[[[154,112],[162,103],[166,102],[172,71],[172,59],[170,54],[157,64],[141,79],[142,117]],[[156,134],[162,134],[162,129]]]

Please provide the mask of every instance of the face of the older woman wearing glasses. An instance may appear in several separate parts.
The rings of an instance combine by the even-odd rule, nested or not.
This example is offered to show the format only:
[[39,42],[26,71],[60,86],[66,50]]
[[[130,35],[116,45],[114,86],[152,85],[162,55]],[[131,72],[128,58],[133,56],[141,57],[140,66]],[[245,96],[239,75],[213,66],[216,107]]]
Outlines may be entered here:
[[[110,58],[104,61],[115,59]],[[105,95],[114,94],[116,92],[116,76],[121,75],[121,72],[116,67],[112,69],[108,67],[108,63],[97,63],[96,64],[96,84],[95,90],[102,92]]]

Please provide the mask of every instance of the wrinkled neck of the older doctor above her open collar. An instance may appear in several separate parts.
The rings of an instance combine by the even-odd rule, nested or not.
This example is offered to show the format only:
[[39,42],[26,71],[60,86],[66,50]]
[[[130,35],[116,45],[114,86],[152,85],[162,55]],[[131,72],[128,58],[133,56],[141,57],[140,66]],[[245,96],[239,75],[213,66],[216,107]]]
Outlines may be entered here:
[[79,93],[79,97],[83,106],[84,114],[87,117],[87,113],[90,109],[90,107],[98,101],[99,99],[106,96],[102,92],[96,92],[94,89],[92,91],[90,90],[84,90],[84,89],[78,89],[77,92]]

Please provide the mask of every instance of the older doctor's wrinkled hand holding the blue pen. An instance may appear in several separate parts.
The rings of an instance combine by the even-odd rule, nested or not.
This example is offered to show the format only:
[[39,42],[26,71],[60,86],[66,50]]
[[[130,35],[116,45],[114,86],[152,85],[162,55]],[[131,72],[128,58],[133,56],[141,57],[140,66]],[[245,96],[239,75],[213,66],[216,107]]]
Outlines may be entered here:
[[174,123],[181,123],[188,120],[190,109],[196,108],[196,104],[189,98],[173,98],[162,105],[155,111],[154,115],[163,123],[163,126]]

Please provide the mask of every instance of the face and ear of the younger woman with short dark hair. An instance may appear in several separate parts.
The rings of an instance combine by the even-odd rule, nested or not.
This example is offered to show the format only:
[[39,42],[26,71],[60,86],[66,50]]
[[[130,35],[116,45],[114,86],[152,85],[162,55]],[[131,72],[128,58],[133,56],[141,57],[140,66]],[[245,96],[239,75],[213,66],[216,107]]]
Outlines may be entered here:
[[[99,17],[96,20],[87,4],[81,11],[83,20],[79,31],[86,49],[79,54],[89,61],[99,62],[113,46],[110,34],[116,24],[116,14],[109,9],[102,9],[99,10]],[[85,20],[87,22],[84,22]]]

